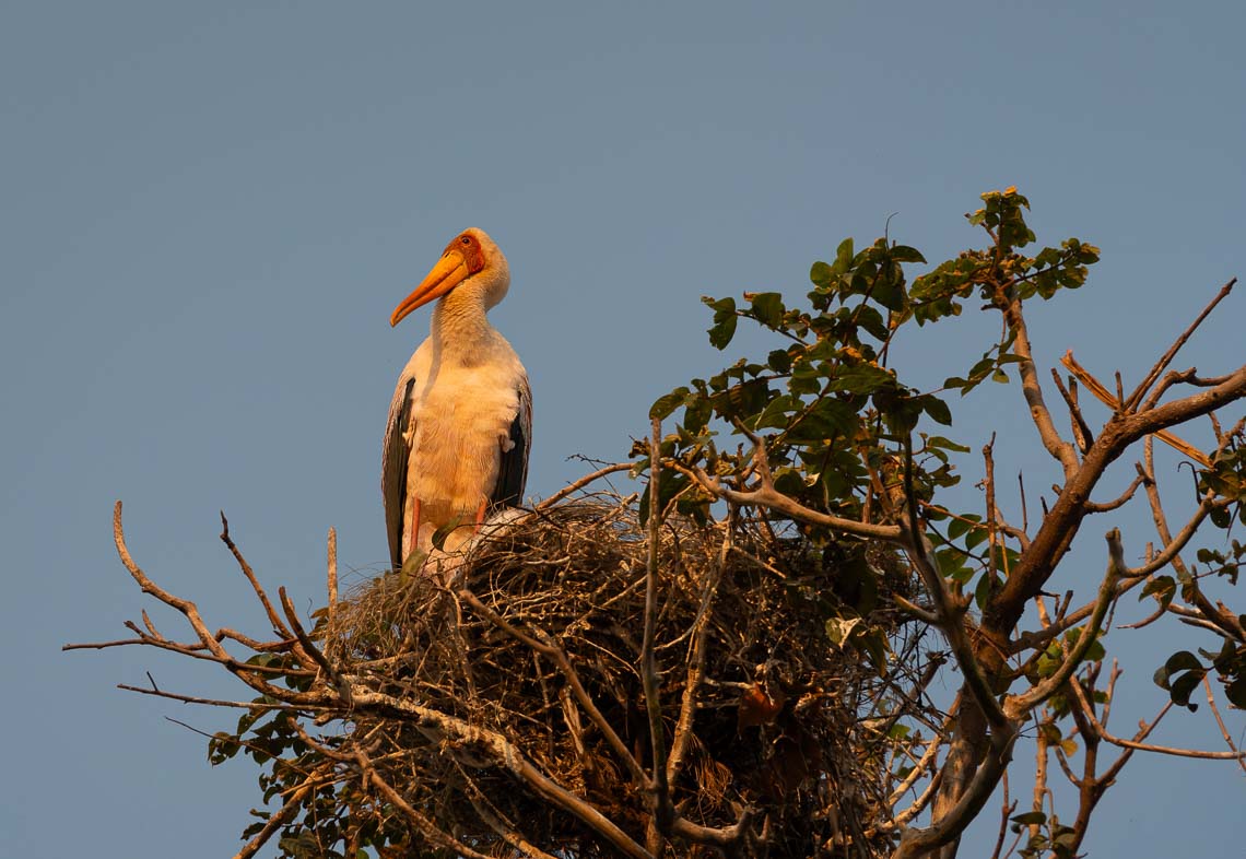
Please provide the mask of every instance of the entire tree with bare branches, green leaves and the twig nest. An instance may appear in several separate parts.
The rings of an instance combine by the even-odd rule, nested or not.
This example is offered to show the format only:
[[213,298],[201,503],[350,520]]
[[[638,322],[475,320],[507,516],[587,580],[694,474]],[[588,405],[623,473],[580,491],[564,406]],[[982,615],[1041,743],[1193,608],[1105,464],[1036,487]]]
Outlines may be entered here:
[[[339,597],[330,539],[328,605],[300,618],[227,529],[269,640],[213,630],[161,588],[131,557],[118,504],[126,567],[192,635],[166,637],[145,613],[133,638],[71,647],[171,650],[254,692],[135,689],[243,711],[209,747],[213,763],[260,768],[240,857],[274,838],[287,857],[952,857],[1001,785],[996,855],[1077,855],[1135,754],[1246,769],[1221,714],[1246,707],[1246,615],[1225,602],[1244,557],[1246,367],[1172,369],[1230,281],[1136,383],[1104,384],[1072,352],[1044,379],[1025,310],[1083,287],[1099,249],[1035,249],[1028,209],[1015,188],[982,194],[967,216],[981,247],[933,266],[890,237],[849,238],[811,266],[804,300],[705,298],[714,348],[741,322],[776,348],[658,398],[627,461],[503,517],[466,557]],[[966,308],[998,314],[999,337],[938,389],[906,382],[893,347]],[[967,444],[992,428],[953,421],[988,380],[1018,385],[1063,476],[1049,491],[1020,481],[1019,521],[998,501],[993,441]],[[1098,426],[1087,391],[1109,410]],[[1180,438],[1194,421],[1214,446]],[[1192,465],[1185,509],[1161,499],[1156,439]],[[948,490],[973,455],[982,495],[964,509]],[[1121,459],[1135,476],[1100,499]],[[623,471],[640,492],[602,489]],[[1154,532],[1108,530],[1101,577],[1049,592],[1083,526],[1126,505]],[[1126,544],[1148,546],[1135,566]],[[1153,607],[1133,626],[1206,638],[1144,666],[1168,703],[1114,733],[1130,652],[1109,632],[1125,600]],[[932,696],[953,677],[953,698]],[[1196,696],[1226,748],[1148,742]],[[1038,762],[1028,790],[1006,780],[1022,747]]]

